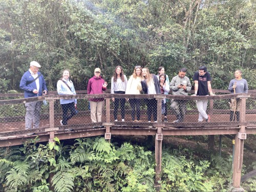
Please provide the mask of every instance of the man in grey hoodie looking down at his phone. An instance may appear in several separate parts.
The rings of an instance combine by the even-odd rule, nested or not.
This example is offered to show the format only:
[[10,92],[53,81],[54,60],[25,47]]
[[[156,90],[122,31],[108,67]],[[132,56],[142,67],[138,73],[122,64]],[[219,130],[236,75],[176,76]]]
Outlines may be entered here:
[[[186,77],[186,71],[186,68],[181,68],[179,74],[170,82],[170,89],[172,89],[174,95],[188,95],[188,91],[191,90],[191,83]],[[170,108],[173,109],[177,117],[174,123],[183,122],[186,113],[186,100],[173,99]]]

